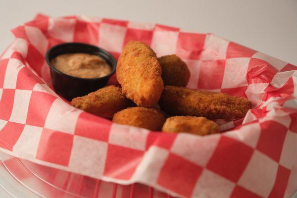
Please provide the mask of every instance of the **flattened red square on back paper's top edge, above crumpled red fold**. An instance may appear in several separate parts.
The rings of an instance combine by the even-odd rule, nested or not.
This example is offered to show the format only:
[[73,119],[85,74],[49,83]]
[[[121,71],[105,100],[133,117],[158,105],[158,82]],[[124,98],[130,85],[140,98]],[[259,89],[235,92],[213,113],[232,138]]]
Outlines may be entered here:
[[234,42],[230,42],[227,48],[226,58],[251,57],[256,52],[256,50],[249,49]]

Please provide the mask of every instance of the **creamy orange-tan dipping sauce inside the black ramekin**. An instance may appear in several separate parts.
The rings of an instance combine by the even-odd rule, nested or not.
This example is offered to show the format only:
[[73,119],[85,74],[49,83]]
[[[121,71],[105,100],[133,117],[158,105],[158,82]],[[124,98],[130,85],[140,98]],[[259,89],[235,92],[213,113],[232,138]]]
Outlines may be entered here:
[[79,78],[99,78],[111,73],[102,58],[89,53],[64,53],[53,58],[51,64],[60,72]]

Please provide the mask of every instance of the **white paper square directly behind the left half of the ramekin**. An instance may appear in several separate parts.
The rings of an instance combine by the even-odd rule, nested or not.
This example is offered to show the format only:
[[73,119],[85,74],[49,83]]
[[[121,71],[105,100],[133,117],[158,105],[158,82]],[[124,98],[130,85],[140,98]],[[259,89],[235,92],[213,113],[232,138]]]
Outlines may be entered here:
[[48,35],[64,42],[72,42],[76,19],[49,18]]

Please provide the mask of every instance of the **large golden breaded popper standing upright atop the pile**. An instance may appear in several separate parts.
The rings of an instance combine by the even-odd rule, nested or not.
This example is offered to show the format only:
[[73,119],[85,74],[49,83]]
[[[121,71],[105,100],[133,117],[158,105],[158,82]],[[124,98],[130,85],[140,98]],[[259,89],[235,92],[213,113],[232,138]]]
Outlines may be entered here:
[[138,106],[152,107],[160,99],[161,66],[155,52],[146,44],[128,42],[119,57],[116,72],[123,94]]

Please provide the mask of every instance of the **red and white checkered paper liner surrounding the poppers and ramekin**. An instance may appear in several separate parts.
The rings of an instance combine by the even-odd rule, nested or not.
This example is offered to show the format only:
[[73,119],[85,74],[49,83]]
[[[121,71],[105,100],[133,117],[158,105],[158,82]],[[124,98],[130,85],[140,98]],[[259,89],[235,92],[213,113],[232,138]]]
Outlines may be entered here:
[[[158,24],[37,15],[12,33],[0,59],[0,150],[179,197],[289,198],[297,190],[296,66],[213,34]],[[199,137],[115,124],[52,91],[50,47],[83,42],[117,58],[129,40],[157,56],[180,56],[191,71],[189,88],[246,97],[253,109],[243,119],[217,120],[225,133]]]

